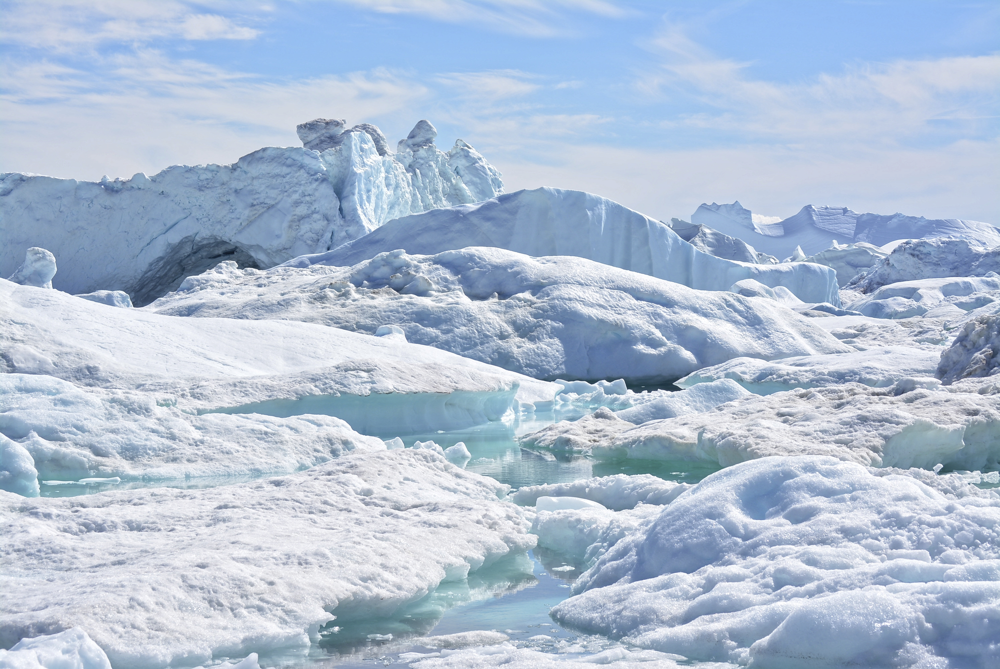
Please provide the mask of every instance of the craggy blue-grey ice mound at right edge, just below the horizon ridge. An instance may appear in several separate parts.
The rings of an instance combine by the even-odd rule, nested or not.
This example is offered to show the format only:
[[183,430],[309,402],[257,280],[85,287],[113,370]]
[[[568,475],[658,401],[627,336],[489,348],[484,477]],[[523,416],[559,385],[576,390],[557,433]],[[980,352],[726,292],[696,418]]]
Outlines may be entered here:
[[[992,246],[992,247],[989,247]],[[871,293],[890,283],[1000,272],[1000,239],[982,247],[968,239],[911,239],[896,246],[851,287]]]

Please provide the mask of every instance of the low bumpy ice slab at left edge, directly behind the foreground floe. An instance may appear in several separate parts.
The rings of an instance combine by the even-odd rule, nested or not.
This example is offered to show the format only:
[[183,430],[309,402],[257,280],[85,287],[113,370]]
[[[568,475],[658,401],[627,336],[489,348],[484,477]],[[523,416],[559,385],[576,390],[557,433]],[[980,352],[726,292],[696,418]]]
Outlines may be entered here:
[[[0,375],[0,435],[46,480],[165,481],[290,474],[381,440],[328,416],[196,415],[170,396],[81,388],[44,375]],[[10,443],[8,443],[9,446]],[[6,468],[8,457],[4,456]],[[35,471],[37,470],[37,471]],[[34,472],[34,473],[33,473]],[[2,476],[2,475],[0,475]],[[31,496],[8,487],[0,489]]]

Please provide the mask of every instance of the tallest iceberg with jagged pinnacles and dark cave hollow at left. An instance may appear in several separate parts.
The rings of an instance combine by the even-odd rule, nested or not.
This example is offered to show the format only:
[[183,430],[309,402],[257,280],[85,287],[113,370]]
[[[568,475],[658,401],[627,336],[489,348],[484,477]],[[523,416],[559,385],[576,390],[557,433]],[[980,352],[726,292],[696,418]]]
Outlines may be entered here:
[[373,125],[330,137],[335,128],[326,128],[331,141],[307,142],[321,152],[267,147],[231,165],[174,165],[151,177],[2,173],[0,276],[41,246],[62,266],[60,290],[124,290],[142,305],[223,259],[269,267],[390,218],[503,192],[500,173],[462,140],[439,151],[427,121],[397,154]]

